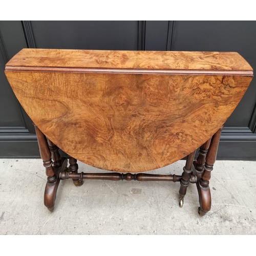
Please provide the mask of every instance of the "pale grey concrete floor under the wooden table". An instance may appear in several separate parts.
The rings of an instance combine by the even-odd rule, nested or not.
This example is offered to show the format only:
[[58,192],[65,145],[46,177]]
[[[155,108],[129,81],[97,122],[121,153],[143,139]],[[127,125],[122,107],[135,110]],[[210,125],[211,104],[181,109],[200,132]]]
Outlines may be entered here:
[[[54,212],[44,206],[40,159],[0,159],[0,234],[256,234],[256,162],[217,161],[210,180],[212,206],[197,213],[190,184],[183,208],[179,183],[60,181]],[[79,171],[102,172],[80,163]],[[182,173],[184,161],[149,172]]]

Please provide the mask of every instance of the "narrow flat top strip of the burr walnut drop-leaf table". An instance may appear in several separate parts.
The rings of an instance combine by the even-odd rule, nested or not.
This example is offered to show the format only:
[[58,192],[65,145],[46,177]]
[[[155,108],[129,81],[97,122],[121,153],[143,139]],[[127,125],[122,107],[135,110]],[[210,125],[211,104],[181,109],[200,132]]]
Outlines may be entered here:
[[6,70],[216,75],[239,71],[252,75],[250,65],[236,52],[23,49],[7,63]]

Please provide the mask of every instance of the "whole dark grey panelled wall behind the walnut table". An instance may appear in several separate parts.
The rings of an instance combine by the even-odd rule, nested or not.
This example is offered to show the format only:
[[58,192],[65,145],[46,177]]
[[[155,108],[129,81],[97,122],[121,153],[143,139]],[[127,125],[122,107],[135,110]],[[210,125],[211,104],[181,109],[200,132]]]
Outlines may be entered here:
[[[34,128],[4,74],[23,48],[235,51],[256,70],[256,22],[0,22],[0,157],[39,157]],[[218,159],[256,160],[256,84],[226,122]]]

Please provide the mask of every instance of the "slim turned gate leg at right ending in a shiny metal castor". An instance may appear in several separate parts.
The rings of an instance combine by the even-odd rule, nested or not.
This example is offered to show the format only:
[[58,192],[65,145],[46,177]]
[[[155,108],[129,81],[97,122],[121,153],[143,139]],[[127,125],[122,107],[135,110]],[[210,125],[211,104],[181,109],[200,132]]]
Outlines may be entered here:
[[195,154],[196,154],[196,151],[194,151],[193,153],[191,153],[187,156],[186,165],[183,168],[182,179],[180,181],[180,190],[179,190],[180,207],[183,206],[183,200],[186,195],[187,187],[190,182],[191,173],[192,173],[192,165],[193,165],[193,161],[195,158]]

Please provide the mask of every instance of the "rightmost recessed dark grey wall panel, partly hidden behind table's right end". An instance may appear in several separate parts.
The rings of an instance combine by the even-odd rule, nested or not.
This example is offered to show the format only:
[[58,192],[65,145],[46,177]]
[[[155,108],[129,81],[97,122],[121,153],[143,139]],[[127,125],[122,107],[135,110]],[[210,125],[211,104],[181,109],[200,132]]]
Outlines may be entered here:
[[[256,70],[255,25],[251,22],[176,22],[172,50],[238,52]],[[248,127],[255,102],[253,80],[226,126]]]

